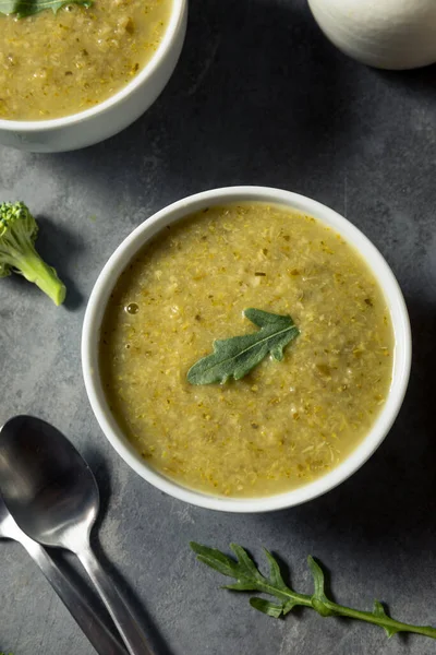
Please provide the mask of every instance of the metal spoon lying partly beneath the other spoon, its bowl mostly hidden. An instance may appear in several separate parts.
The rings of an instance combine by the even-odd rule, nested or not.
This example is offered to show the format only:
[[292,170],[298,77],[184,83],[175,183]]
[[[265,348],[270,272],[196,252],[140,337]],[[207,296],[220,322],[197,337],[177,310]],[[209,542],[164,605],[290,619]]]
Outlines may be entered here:
[[14,539],[24,546],[99,655],[125,655],[124,647],[95,614],[86,598],[64,576],[47,550],[20,529],[1,497],[0,539]]

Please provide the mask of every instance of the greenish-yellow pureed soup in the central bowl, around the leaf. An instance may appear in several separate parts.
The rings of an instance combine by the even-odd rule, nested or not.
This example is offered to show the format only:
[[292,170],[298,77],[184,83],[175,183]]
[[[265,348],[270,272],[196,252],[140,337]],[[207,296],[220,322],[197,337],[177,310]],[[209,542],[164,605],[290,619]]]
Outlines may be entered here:
[[[256,330],[250,307],[295,321],[283,360],[190,384],[214,340]],[[365,437],[389,391],[393,333],[372,272],[338,234],[241,203],[145,246],[110,296],[99,355],[110,409],[147,464],[208,493],[262,497],[325,475]]]

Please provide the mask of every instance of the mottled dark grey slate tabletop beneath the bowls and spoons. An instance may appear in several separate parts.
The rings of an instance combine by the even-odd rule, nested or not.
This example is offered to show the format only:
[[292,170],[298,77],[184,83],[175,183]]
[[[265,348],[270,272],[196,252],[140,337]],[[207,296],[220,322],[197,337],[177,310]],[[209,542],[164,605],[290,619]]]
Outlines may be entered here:
[[[261,546],[308,590],[307,553],[350,605],[389,602],[393,616],[436,624],[436,68],[380,72],[328,44],[303,0],[192,0],[185,48],[154,107],[82,152],[0,148],[0,200],[40,217],[40,250],[69,285],[56,309],[17,277],[0,283],[0,422],[52,421],[88,457],[104,512],[99,553],[154,636],[157,655],[429,655],[419,636],[303,611],[276,621],[196,564],[190,539]],[[310,504],[233,516],[185,505],[111,450],[82,382],[86,299],[116,246],[156,210],[213,187],[258,183],[346,214],[382,250],[404,291],[414,336],[401,414],[372,460]],[[95,216],[95,219],[92,217]],[[154,628],[153,628],[153,626]],[[0,650],[90,655],[21,546],[0,544]]]

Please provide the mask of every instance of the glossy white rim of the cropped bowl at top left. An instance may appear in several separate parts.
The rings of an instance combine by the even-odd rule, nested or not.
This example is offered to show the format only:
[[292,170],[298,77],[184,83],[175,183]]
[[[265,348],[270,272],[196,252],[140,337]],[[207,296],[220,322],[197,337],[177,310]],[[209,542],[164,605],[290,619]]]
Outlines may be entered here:
[[10,132],[47,132],[57,130],[59,128],[65,128],[81,123],[98,114],[104,114],[108,109],[111,109],[116,105],[122,103],[132,92],[138,86],[147,83],[147,80],[154,75],[155,71],[161,64],[166,57],[169,48],[171,47],[175,36],[179,33],[180,27],[183,24],[183,16],[187,5],[187,0],[171,0],[172,8],[170,20],[165,31],[164,37],[157,47],[156,52],[152,56],[152,59],[141,69],[141,71],[133,78],[129,84],[122,86],[120,91],[111,95],[106,100],[98,103],[89,109],[77,111],[68,116],[61,116],[59,118],[50,118],[48,120],[9,120],[0,118],[0,130]]

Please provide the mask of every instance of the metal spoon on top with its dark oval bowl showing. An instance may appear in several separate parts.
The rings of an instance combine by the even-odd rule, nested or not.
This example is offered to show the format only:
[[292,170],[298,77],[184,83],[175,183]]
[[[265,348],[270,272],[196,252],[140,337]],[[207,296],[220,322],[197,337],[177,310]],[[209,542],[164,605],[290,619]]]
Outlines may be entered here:
[[94,582],[131,655],[152,655],[135,618],[95,558],[89,534],[99,509],[89,466],[59,430],[31,416],[0,433],[0,492],[19,526],[45,546],[74,552]]

